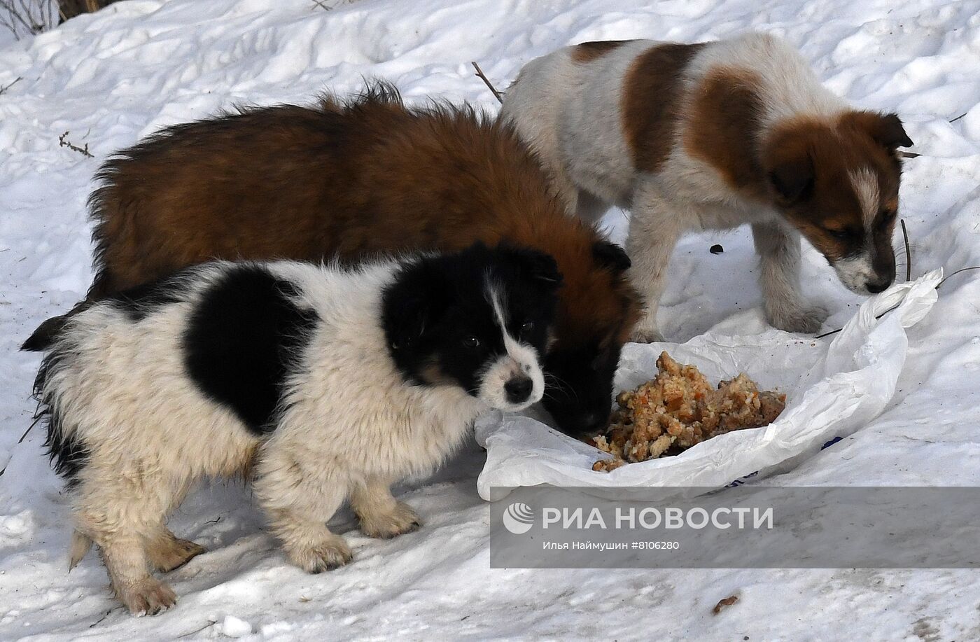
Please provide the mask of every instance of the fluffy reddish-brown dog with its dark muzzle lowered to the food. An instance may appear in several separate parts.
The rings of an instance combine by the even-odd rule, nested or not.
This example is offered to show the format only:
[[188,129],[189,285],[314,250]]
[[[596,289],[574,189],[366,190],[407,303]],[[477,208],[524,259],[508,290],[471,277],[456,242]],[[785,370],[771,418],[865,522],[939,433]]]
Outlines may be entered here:
[[469,108],[406,109],[378,84],[350,102],[180,124],[109,161],[92,195],[97,299],[210,259],[342,261],[508,241],[564,274],[545,407],[605,425],[638,318],[629,260],[547,196],[512,130]]

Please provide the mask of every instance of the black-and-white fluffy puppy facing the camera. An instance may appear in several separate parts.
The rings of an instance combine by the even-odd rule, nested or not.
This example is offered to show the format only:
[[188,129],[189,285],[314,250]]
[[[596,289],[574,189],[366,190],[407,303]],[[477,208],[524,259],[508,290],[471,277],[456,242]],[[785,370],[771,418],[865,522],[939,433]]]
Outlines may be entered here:
[[[202,476],[248,472],[289,559],[351,559],[345,500],[376,537],[418,525],[392,483],[437,467],[472,421],[544,391],[562,277],[552,257],[475,245],[357,269],[204,264],[66,321],[35,392],[73,502],[71,566],[94,541],[134,614],[175,602],[151,569],[203,552],[168,514]],[[29,342],[28,342],[29,343]]]

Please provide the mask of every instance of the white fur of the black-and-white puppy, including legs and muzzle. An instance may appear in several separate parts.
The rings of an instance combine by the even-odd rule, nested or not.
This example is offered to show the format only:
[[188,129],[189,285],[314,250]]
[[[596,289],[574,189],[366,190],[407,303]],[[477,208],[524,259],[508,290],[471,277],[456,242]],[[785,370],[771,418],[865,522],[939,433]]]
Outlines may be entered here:
[[[460,386],[406,383],[380,324],[381,292],[397,262],[359,271],[273,263],[270,270],[297,286],[299,305],[319,321],[287,381],[275,430],[260,438],[207,398],[182,363],[188,315],[228,265],[202,269],[188,302],[142,321],[107,304],[75,316],[62,339],[72,349],[41,391],[64,418],[66,436],[90,451],[71,492],[73,563],[94,540],[133,613],[175,601],[151,566],[174,568],[203,551],[165,525],[198,478],[245,473],[254,464],[256,495],[287,556],[307,570],[332,568],[351,557],[326,526],[341,504],[350,499],[368,535],[413,528],[415,512],[392,497],[390,485],[437,467],[496,399],[488,404]],[[522,407],[539,401],[537,355],[518,345],[508,359],[536,377]]]

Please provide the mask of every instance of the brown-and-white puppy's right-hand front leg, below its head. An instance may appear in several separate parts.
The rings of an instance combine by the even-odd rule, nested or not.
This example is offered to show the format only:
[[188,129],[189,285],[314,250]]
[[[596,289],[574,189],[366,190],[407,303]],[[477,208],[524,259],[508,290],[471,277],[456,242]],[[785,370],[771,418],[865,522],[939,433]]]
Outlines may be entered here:
[[787,332],[813,333],[827,311],[810,306],[800,294],[800,234],[777,222],[753,223],[760,257],[759,281],[765,319]]

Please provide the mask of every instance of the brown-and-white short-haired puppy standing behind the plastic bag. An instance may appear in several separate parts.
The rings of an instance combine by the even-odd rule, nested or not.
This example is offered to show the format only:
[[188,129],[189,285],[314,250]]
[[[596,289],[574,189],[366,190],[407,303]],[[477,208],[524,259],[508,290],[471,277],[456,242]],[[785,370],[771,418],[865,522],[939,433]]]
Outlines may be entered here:
[[632,211],[627,252],[647,312],[637,340],[660,337],[670,254],[688,230],[751,223],[765,317],[814,332],[826,312],[800,294],[800,235],[859,294],[895,278],[894,114],[853,109],[782,40],[586,42],[528,63],[502,118],[540,156],[570,213]]

